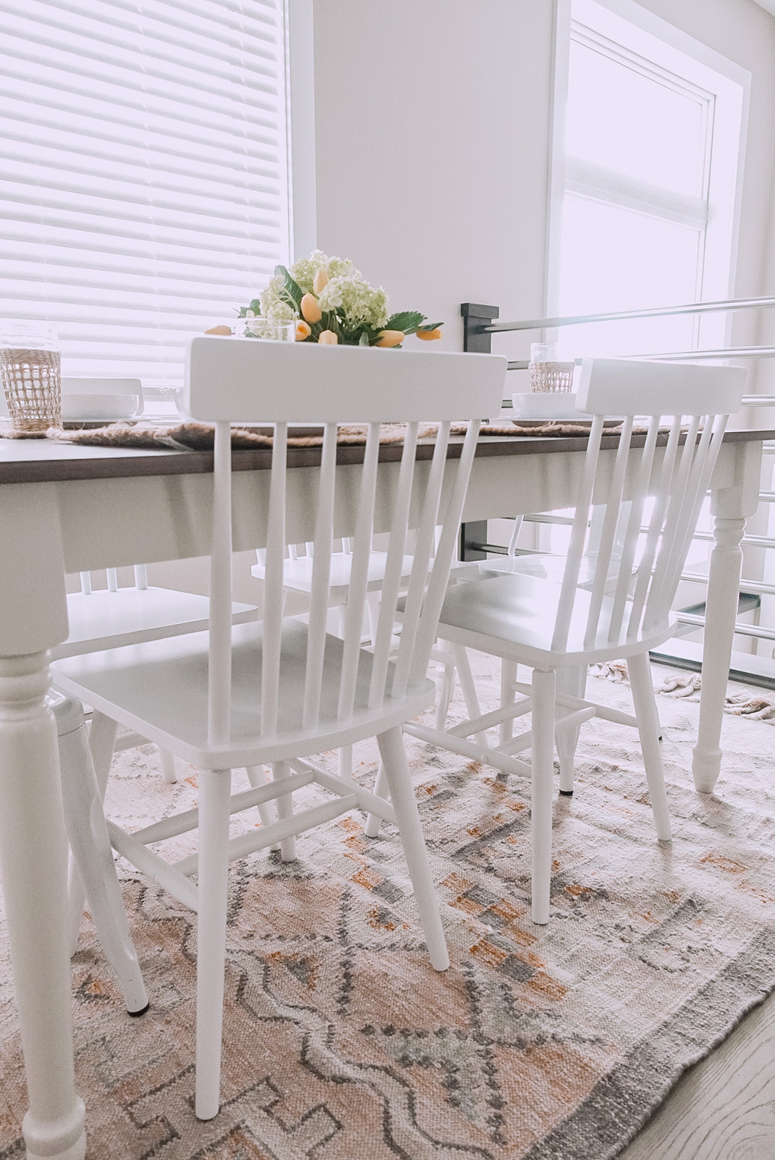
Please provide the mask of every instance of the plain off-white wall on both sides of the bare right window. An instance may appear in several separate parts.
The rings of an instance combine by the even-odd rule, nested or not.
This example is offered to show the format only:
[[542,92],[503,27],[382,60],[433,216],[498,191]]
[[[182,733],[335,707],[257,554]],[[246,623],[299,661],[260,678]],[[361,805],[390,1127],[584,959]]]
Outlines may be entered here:
[[[775,292],[775,17],[644,5],[753,74],[736,292]],[[318,244],[443,318],[455,349],[463,300],[543,312],[552,20],[552,0],[314,0]],[[765,325],[739,314],[734,341]]]

